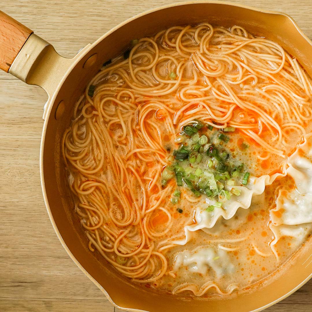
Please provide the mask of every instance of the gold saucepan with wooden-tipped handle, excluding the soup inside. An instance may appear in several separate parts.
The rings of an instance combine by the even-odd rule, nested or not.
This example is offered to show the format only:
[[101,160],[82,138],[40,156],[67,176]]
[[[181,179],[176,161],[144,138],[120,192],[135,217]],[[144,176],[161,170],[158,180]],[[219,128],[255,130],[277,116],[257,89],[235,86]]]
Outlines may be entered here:
[[312,240],[287,261],[275,276],[258,287],[228,297],[194,299],[137,288],[87,248],[74,216],[60,142],[73,107],[103,63],[119,55],[134,38],[153,35],[174,25],[201,22],[240,25],[256,36],[278,42],[312,76],[312,42],[289,16],[227,2],[184,2],[157,8],[121,23],[74,58],[56,53],[47,41],[0,11],[0,68],[49,95],[44,110],[40,172],[47,212],[62,245],[76,265],[120,309],[131,311],[260,311],[293,293],[312,276]]

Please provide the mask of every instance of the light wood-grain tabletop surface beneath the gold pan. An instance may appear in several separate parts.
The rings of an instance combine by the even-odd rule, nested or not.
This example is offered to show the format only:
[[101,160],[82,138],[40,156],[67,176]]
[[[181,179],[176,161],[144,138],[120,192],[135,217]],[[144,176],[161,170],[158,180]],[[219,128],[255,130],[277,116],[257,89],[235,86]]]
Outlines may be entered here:
[[[1,0],[0,10],[74,56],[125,19],[170,2],[180,1]],[[288,13],[312,39],[312,0],[239,2]],[[0,73],[0,311],[117,311],[67,255],[46,213],[39,176],[46,100],[39,87]],[[312,311],[312,280],[266,311]]]

